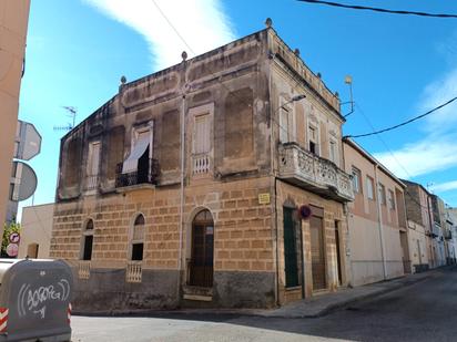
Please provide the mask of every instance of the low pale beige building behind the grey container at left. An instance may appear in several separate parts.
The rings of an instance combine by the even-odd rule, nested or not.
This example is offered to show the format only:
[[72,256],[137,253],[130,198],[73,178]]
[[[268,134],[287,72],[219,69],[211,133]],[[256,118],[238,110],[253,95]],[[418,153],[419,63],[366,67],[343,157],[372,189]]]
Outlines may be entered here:
[[49,258],[53,214],[53,203],[22,208],[18,258]]

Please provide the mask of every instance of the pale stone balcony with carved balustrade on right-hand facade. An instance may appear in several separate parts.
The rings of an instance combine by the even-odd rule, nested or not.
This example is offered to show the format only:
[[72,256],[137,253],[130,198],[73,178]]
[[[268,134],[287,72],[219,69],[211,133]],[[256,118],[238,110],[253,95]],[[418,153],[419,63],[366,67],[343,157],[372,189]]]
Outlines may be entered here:
[[354,200],[349,175],[294,143],[280,145],[280,178],[337,201]]

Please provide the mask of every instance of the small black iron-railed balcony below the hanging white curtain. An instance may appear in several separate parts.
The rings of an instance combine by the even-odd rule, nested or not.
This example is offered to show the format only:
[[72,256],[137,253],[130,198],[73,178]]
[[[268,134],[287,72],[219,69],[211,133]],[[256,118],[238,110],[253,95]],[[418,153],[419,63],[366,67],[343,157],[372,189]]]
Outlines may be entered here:
[[142,184],[156,185],[159,179],[159,162],[154,158],[149,158],[148,163],[140,164],[135,172],[122,173],[123,163],[116,165],[115,170],[115,187],[129,187]]

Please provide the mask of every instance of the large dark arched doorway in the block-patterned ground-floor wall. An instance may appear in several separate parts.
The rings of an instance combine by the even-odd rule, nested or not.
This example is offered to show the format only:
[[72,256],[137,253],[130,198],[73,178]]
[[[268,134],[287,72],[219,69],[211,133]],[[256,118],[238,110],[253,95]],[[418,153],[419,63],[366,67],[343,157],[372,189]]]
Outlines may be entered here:
[[214,221],[210,210],[202,210],[192,221],[191,286],[213,286],[213,257]]

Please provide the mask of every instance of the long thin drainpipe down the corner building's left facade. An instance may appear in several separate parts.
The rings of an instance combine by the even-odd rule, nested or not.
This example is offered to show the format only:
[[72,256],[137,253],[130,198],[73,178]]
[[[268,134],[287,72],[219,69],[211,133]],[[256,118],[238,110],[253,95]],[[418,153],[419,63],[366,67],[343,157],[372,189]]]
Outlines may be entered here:
[[176,294],[177,301],[180,301],[181,294],[181,270],[182,270],[182,249],[183,249],[183,217],[184,217],[184,157],[185,157],[185,59],[187,58],[187,53],[185,51],[181,54],[183,61],[183,77],[184,77],[184,85],[182,91],[182,101],[181,101],[181,188],[180,188],[180,196],[181,196],[181,204],[180,204],[180,222],[179,222],[179,231],[180,231],[180,243],[177,250],[177,287],[176,287]]

